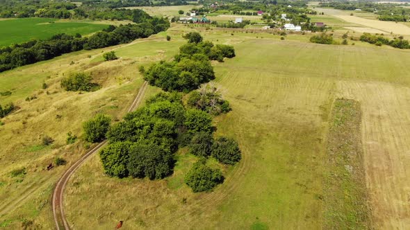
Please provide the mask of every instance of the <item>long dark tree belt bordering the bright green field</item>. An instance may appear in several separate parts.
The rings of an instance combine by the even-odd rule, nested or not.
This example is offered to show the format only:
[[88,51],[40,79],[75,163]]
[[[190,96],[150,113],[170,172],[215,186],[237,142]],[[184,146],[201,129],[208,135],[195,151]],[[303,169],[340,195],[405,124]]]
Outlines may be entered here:
[[136,19],[136,21],[147,20],[145,22],[118,27],[109,26],[104,31],[97,32],[90,37],[81,37],[79,34],[74,36],[59,34],[44,41],[32,40],[0,48],[0,72],[49,60],[64,53],[128,43],[134,39],[149,37],[170,27],[167,19],[152,18],[147,13],[144,12],[144,14],[142,19]]

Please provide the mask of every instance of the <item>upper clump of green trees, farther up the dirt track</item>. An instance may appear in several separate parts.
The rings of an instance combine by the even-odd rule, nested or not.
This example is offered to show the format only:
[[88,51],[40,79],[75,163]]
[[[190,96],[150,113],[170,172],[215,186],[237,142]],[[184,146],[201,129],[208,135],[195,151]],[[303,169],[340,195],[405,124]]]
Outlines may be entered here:
[[187,93],[215,78],[210,60],[222,62],[224,57],[235,56],[233,46],[214,46],[212,42],[202,42],[199,33],[188,33],[184,37],[188,39],[188,44],[179,48],[180,53],[172,62],[158,62],[143,72],[150,85],[161,87],[165,91]]

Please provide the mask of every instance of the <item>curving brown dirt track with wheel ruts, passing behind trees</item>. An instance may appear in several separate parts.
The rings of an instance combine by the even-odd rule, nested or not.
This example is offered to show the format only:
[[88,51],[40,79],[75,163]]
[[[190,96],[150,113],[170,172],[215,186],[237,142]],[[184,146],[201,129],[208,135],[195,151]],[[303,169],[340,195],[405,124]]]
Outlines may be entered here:
[[[136,107],[138,107],[138,105],[140,105],[142,97],[144,96],[145,91],[147,90],[147,86],[148,86],[148,82],[144,82],[144,84],[138,91],[136,98],[133,100],[133,103],[131,104],[127,112],[133,111],[134,109],[136,109]],[[51,202],[51,207],[53,209],[53,215],[54,215],[54,222],[56,223],[56,229],[58,230],[69,229],[69,224],[64,215],[64,206],[63,206],[64,190],[65,190],[65,186],[67,185],[67,182],[69,181],[69,178],[85,162],[85,160],[87,160],[90,156],[92,156],[92,154],[99,152],[99,150],[101,150],[101,148],[103,148],[106,144],[107,144],[107,141],[103,141],[99,143],[97,146],[95,146],[94,148],[92,148],[85,155],[83,155],[83,157],[81,157],[72,166],[70,166],[68,170],[65,171],[63,176],[60,177],[60,179],[58,180],[56,188],[54,188],[52,202]]]

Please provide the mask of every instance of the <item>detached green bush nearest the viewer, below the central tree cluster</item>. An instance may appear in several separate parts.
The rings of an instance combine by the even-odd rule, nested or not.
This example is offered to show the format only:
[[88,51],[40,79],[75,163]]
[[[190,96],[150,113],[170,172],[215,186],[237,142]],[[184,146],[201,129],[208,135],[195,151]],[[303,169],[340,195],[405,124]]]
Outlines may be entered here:
[[206,166],[204,160],[194,163],[185,176],[185,183],[192,188],[194,193],[211,191],[218,184],[222,184],[223,181],[222,171]]

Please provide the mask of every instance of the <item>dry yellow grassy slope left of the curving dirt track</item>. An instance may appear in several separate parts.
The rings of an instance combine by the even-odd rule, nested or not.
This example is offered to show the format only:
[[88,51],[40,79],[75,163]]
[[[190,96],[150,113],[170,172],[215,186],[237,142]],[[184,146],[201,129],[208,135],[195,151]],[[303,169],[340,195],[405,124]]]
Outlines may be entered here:
[[[44,229],[53,228],[52,213],[48,209],[49,197],[67,166],[55,167],[50,171],[44,168],[54,162],[56,157],[63,157],[70,164],[79,159],[86,149],[81,140],[66,145],[67,132],[81,138],[81,124],[97,112],[109,114],[113,121],[120,119],[142,85],[138,66],[167,55],[157,52],[158,47],[153,45],[152,51],[142,56],[127,56],[118,52],[119,60],[101,62],[101,52],[116,51],[117,48],[126,50],[127,46],[138,46],[145,41],[151,41],[150,44],[166,42],[163,35],[158,35],[132,44],[71,53],[0,74],[0,81],[13,87],[13,99],[7,100],[13,101],[18,107],[15,112],[1,119],[5,123],[0,126],[1,226],[18,229],[23,220],[34,220],[34,225]],[[60,88],[60,80],[72,71],[91,73],[101,89],[83,94],[64,91]],[[44,79],[49,87],[41,89],[41,81],[33,86],[24,82],[21,84],[19,76]],[[24,100],[26,96],[32,95],[37,96],[37,99]],[[0,103],[3,102],[0,98]],[[49,147],[42,145],[45,135],[54,139]],[[12,170],[23,167],[26,168],[23,179],[11,177]]]

